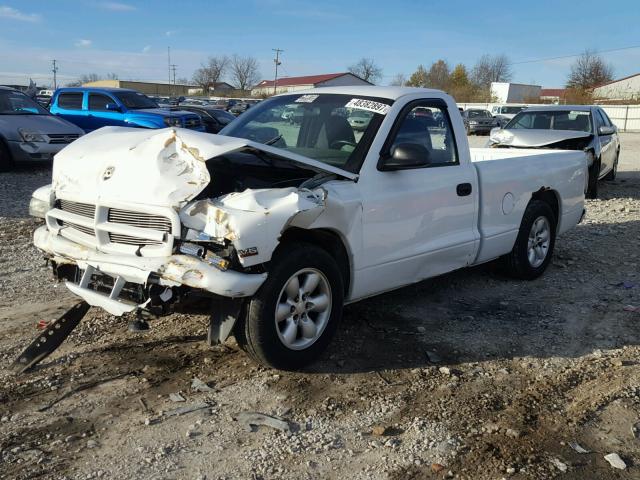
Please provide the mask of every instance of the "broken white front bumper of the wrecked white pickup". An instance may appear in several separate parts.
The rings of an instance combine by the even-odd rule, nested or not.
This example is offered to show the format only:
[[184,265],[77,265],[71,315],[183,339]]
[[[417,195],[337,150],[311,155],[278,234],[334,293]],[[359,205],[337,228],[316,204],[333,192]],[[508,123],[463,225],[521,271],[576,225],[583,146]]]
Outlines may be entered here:
[[[79,283],[67,282],[67,287],[90,305],[104,308],[113,315],[144,307],[144,304],[136,305],[120,298],[120,290],[124,283],[145,285],[152,275],[158,285],[186,286],[230,298],[252,296],[267,278],[266,273],[222,271],[190,255],[137,257],[106,254],[55,235],[46,226],[36,229],[33,243],[57,264],[77,265],[83,270],[82,280]],[[96,273],[114,279],[108,295],[89,288],[90,277]]]

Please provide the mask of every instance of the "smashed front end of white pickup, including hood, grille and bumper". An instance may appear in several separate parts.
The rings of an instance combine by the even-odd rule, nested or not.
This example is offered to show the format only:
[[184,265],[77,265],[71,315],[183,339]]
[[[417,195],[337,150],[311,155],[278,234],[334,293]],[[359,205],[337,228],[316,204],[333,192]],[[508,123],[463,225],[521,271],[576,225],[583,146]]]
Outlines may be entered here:
[[322,214],[318,179],[341,175],[243,139],[102,129],[56,157],[32,202],[50,207],[34,244],[69,290],[113,315],[162,313],[194,291],[251,297],[281,233]]

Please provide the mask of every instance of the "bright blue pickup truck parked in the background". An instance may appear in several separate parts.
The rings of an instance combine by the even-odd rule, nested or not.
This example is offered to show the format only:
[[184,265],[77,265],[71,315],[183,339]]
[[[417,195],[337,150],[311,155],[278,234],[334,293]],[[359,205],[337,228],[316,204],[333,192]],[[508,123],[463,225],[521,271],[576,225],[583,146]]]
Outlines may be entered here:
[[205,131],[195,113],[160,108],[146,95],[125,88],[59,88],[53,94],[49,111],[85,132],[106,126]]

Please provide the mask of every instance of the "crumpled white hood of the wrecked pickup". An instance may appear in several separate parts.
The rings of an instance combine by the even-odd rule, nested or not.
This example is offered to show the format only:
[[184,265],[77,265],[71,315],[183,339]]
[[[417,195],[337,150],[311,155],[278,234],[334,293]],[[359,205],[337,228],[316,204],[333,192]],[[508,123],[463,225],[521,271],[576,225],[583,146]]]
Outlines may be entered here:
[[53,164],[56,197],[112,200],[181,208],[209,183],[205,162],[246,148],[277,155],[311,170],[357,175],[286,150],[187,129],[106,127],[76,140]]

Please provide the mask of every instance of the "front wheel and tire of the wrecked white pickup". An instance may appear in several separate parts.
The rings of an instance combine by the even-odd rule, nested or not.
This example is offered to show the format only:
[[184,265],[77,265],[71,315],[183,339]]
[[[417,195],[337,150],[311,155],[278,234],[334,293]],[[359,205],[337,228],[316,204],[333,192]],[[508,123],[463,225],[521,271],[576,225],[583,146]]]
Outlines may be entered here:
[[284,245],[271,265],[236,325],[236,340],[262,365],[299,370],[326,349],[336,331],[342,276],[325,250],[307,243]]

